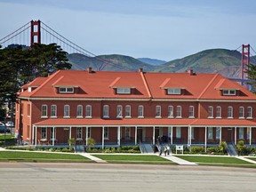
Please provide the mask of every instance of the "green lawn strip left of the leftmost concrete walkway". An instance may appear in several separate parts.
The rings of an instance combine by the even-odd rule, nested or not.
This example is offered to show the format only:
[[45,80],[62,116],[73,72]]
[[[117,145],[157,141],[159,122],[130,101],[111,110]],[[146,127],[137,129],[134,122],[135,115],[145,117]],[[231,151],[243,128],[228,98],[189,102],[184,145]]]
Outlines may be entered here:
[[21,162],[92,162],[84,156],[76,154],[38,153],[20,151],[1,151],[0,161]]

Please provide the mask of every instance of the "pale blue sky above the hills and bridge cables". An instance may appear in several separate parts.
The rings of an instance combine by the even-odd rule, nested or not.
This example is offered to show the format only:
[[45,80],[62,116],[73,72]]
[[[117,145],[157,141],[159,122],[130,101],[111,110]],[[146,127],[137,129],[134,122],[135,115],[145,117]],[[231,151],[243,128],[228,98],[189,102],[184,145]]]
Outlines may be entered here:
[[30,20],[95,55],[169,61],[242,44],[256,50],[255,0],[0,0],[0,39]]

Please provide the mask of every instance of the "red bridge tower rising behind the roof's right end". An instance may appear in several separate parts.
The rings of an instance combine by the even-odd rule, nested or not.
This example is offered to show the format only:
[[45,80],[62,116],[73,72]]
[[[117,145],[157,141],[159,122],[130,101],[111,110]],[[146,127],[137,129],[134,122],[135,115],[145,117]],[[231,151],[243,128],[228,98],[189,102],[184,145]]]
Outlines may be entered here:
[[241,79],[242,85],[244,85],[244,79],[248,79],[248,75],[244,74],[244,71],[248,69],[250,64],[250,44],[242,45],[242,60],[241,60]]

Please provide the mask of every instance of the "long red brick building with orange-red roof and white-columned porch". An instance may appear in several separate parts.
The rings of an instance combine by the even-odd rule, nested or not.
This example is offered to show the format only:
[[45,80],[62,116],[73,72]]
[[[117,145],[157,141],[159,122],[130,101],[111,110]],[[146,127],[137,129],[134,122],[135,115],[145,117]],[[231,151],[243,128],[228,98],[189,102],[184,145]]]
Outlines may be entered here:
[[256,96],[219,74],[71,71],[22,87],[16,133],[29,144],[256,144]]

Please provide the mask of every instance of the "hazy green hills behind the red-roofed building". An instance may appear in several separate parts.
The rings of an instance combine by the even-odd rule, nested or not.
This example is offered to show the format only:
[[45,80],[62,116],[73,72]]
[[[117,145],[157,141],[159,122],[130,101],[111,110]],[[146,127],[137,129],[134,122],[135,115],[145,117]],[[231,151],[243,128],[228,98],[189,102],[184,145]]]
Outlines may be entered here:
[[[241,71],[241,52],[227,49],[211,49],[189,55],[179,60],[171,60],[160,65],[149,65],[124,55],[100,55],[86,57],[83,54],[68,54],[68,60],[73,64],[74,70],[85,70],[92,67],[94,70],[144,71],[153,72],[186,72],[193,69],[196,73],[220,73],[223,76],[237,78]],[[152,59],[147,59],[152,60]],[[256,64],[256,56],[251,58]]]

